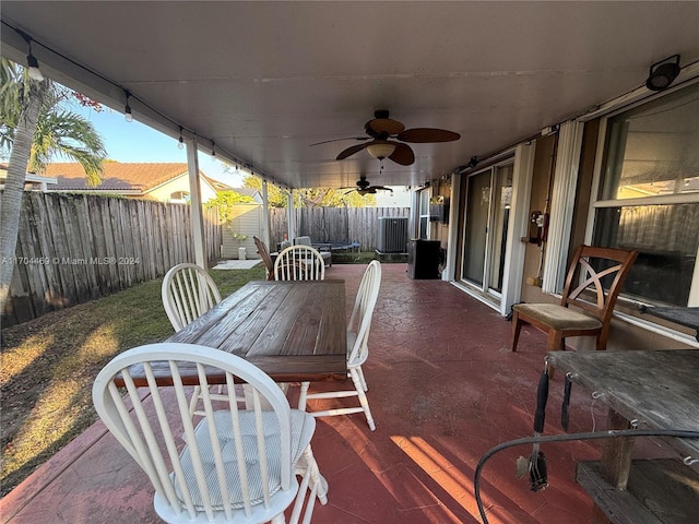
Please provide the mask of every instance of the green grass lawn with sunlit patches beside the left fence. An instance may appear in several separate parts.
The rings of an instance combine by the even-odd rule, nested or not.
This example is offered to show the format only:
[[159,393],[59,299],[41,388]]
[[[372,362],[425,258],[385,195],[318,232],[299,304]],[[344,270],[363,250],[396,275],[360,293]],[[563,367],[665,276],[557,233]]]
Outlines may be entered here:
[[[210,273],[222,297],[265,275],[261,264]],[[95,421],[92,383],[107,361],[173,334],[162,282],[138,284],[2,331],[1,496]]]

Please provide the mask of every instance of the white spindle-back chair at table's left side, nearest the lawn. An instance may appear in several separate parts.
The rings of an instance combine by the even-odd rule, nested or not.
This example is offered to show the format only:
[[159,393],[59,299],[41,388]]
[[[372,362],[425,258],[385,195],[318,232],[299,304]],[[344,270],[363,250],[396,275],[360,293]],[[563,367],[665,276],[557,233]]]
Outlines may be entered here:
[[221,294],[206,271],[189,262],[177,264],[163,279],[163,306],[175,331],[197,320],[221,301]]

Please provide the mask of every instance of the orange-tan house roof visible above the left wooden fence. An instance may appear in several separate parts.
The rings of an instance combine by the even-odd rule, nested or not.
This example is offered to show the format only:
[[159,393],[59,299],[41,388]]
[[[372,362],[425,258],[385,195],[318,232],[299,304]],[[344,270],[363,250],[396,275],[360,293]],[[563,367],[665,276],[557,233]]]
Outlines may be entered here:
[[[103,164],[102,183],[87,186],[85,171],[78,163],[52,163],[46,166],[47,177],[56,177],[52,191],[138,191],[147,192],[157,186],[188,172],[186,163],[121,163]],[[210,184],[212,181],[201,174]]]

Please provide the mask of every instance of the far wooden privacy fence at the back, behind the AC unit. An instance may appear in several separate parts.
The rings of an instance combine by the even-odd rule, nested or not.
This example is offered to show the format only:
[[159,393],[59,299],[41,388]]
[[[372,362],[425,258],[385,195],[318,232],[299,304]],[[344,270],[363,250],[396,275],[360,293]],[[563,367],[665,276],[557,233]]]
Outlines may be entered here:
[[[410,216],[410,207],[301,207],[295,210],[296,231],[313,242],[359,242],[362,251],[378,245],[380,216]],[[270,210],[272,248],[287,231],[285,209]]]

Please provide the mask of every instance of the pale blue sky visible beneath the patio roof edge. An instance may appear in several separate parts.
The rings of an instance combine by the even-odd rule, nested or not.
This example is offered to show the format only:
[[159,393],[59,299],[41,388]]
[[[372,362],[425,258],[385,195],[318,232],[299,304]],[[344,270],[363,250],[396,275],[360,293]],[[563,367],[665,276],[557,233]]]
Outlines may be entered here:
[[[107,158],[117,162],[180,162],[187,163],[187,150],[177,147],[176,139],[149,128],[135,119],[127,122],[123,114],[103,106],[100,111],[90,107],[71,104],[72,112],[90,120],[100,134],[107,150]],[[60,162],[60,160],[59,160]],[[236,171],[235,167],[217,160],[211,155],[199,153],[199,168],[215,180],[233,188],[242,187],[246,171]],[[376,195],[377,206],[408,206],[410,191],[403,187],[393,188],[393,192],[379,191]]]

